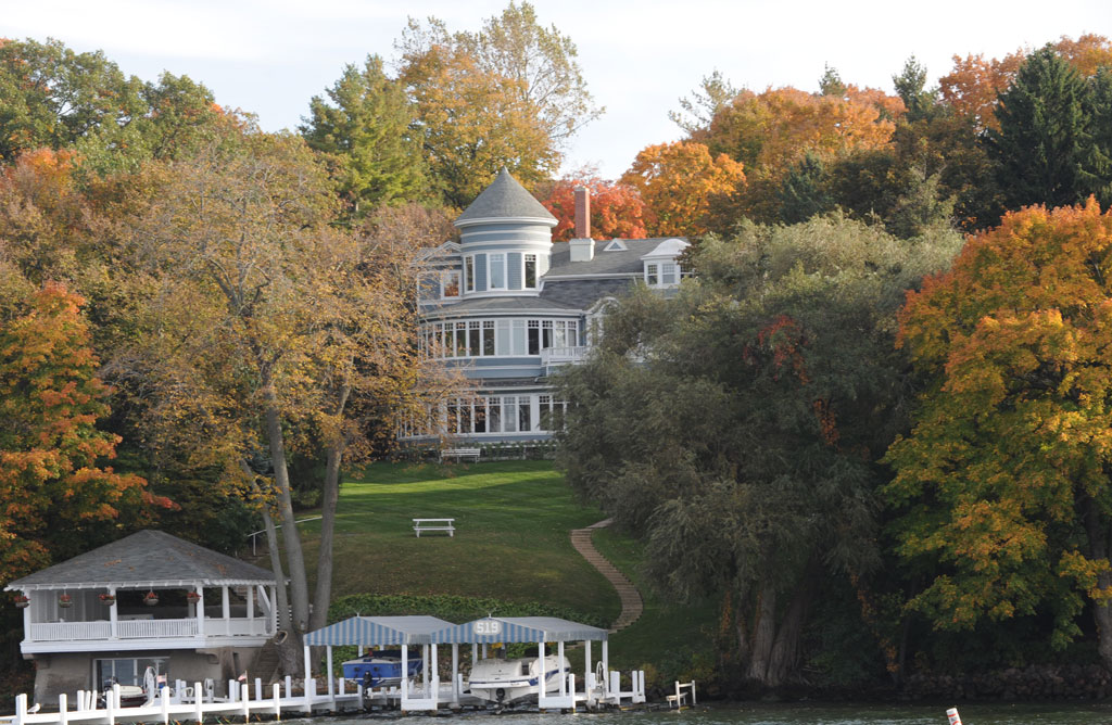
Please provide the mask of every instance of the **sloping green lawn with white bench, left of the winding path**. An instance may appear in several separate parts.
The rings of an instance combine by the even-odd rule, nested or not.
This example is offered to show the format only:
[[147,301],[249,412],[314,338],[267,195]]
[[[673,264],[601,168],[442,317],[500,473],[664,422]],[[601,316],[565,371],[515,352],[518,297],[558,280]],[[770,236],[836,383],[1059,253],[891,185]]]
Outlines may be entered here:
[[[455,537],[414,536],[410,519],[439,516],[456,519]],[[620,610],[617,594],[572,548],[569,536],[602,518],[576,500],[549,461],[374,464],[340,488],[332,596],[537,600],[613,620]],[[311,563],[319,522],[301,526]]]

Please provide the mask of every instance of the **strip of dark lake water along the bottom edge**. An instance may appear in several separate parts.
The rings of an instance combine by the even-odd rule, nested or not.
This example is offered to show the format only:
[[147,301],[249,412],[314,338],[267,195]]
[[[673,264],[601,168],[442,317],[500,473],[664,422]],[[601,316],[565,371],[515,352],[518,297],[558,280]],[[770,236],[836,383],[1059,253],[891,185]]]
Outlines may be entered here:
[[[626,711],[556,715],[463,713],[445,717],[408,716],[405,725],[947,725],[947,705],[767,705],[699,706],[682,712]],[[1070,725],[1112,723],[1112,704],[959,705],[963,725]],[[389,715],[314,718],[298,725],[367,725]],[[397,717],[396,715],[393,717]]]

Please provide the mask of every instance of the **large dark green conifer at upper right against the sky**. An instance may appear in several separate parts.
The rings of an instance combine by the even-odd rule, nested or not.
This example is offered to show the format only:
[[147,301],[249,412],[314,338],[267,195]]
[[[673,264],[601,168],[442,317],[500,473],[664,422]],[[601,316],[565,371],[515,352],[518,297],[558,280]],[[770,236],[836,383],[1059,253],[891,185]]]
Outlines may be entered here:
[[1000,130],[990,129],[986,142],[1009,209],[1079,203],[1108,186],[1109,171],[1093,142],[1089,90],[1048,46],[1027,57],[1000,95]]

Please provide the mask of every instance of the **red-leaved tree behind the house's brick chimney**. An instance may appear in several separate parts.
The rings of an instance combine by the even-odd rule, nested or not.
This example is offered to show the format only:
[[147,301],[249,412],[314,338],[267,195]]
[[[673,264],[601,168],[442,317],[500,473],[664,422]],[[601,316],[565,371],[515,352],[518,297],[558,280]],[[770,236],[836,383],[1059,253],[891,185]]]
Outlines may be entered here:
[[596,176],[567,177],[553,185],[552,193],[542,200],[559,220],[553,228],[553,241],[567,241],[575,236],[575,190],[580,187],[590,195],[592,237],[644,239],[648,236],[645,202],[632,186]]

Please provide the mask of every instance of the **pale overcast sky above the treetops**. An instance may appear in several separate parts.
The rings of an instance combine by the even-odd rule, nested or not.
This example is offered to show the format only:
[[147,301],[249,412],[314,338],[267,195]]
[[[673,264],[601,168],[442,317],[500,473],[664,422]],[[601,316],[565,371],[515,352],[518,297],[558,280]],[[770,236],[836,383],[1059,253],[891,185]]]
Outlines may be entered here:
[[[217,102],[294,129],[309,99],[368,53],[394,58],[407,16],[477,30],[508,0],[0,0],[0,37],[103,50],[143,80],[203,82]],[[565,169],[617,177],[638,150],[675,140],[677,99],[717,69],[735,86],[815,90],[825,63],[845,82],[892,90],[914,53],[931,82],[952,56],[1003,57],[1063,34],[1112,37],[1110,0],[535,0],[578,47],[606,113],[573,139]]]

